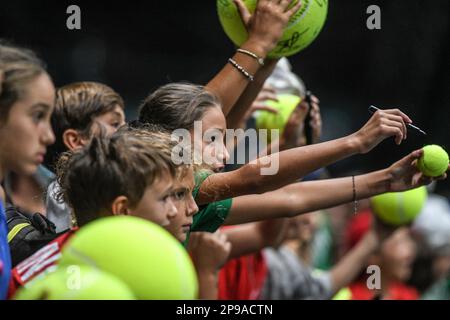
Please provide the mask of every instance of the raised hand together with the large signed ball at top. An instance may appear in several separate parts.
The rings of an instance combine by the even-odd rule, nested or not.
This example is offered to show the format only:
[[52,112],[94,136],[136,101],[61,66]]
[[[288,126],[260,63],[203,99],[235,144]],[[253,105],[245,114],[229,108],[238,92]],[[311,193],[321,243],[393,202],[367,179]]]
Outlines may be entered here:
[[217,0],[217,10],[225,33],[236,45],[254,40],[269,58],[280,58],[314,41],[325,24],[328,1]]

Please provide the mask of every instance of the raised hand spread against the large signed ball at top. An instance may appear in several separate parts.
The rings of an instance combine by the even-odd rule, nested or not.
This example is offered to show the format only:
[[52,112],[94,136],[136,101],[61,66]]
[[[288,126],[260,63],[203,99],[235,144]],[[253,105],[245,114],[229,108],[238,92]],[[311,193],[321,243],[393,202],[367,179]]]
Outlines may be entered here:
[[234,0],[234,3],[247,28],[248,41],[258,43],[264,56],[276,47],[289,19],[301,7],[301,1],[288,9],[291,0],[259,0],[251,15],[242,0]]

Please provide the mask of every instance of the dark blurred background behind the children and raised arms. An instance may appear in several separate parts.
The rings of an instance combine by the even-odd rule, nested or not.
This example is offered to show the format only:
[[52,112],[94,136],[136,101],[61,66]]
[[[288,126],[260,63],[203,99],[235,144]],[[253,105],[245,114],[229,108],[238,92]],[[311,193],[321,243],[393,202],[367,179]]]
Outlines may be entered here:
[[[81,7],[82,29],[66,28],[66,9]],[[381,30],[366,28],[366,9],[381,8]],[[448,149],[450,1],[330,0],[318,39],[290,58],[294,71],[320,98],[324,140],[349,134],[368,119],[367,107],[399,107],[426,138],[411,133],[402,146],[383,142],[370,154],[331,168],[383,168],[427,143]],[[57,86],[104,82],[125,99],[127,114],[158,86],[206,83],[233,54],[215,0],[2,1],[0,37],[35,49]],[[449,182],[438,189],[449,189]]]

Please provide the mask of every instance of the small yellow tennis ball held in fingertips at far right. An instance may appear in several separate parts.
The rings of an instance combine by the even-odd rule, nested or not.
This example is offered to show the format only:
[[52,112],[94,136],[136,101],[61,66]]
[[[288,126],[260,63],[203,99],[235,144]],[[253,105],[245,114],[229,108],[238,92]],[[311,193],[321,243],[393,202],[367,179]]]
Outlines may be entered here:
[[439,177],[448,169],[448,153],[442,147],[431,144],[423,147],[423,155],[417,161],[417,168],[428,177]]

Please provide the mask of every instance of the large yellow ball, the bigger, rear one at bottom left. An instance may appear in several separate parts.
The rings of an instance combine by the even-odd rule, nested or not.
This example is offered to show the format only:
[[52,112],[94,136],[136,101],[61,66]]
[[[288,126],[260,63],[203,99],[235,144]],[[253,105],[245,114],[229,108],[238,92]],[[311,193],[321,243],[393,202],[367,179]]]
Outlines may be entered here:
[[131,216],[96,220],[63,249],[60,267],[85,264],[122,280],[137,299],[195,299],[198,282],[185,249],[166,230]]

